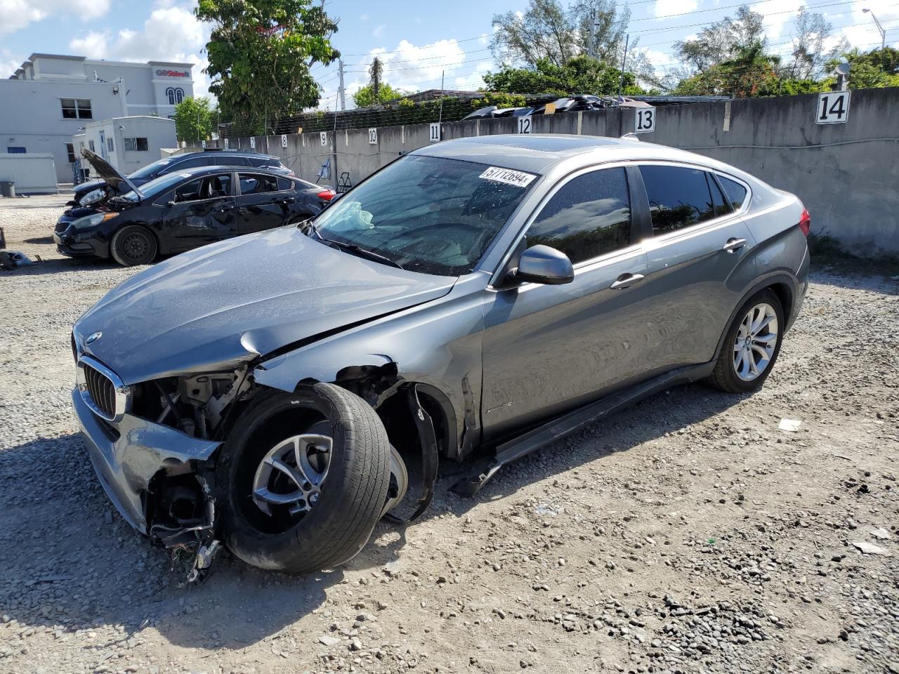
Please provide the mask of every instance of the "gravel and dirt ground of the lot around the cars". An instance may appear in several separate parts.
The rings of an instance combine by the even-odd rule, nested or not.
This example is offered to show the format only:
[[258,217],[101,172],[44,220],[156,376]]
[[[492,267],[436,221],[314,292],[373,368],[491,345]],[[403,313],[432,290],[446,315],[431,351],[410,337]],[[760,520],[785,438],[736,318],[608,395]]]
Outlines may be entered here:
[[0,272],[0,673],[899,674],[895,281],[816,271],[757,395],[657,395],[475,499],[446,477],[334,572],[223,554],[179,587],[76,435],[70,325],[132,270],[55,253],[64,200],[0,200],[49,260]]

